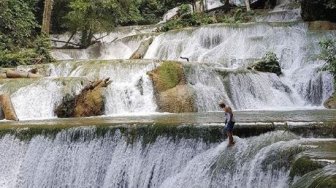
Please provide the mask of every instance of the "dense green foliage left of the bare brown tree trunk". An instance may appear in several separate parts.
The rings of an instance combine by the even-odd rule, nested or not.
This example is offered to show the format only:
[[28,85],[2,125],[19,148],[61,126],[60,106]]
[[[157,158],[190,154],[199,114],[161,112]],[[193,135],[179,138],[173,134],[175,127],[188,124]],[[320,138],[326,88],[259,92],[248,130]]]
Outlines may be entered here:
[[38,0],[0,1],[0,66],[53,61],[49,39],[37,36],[34,8]]

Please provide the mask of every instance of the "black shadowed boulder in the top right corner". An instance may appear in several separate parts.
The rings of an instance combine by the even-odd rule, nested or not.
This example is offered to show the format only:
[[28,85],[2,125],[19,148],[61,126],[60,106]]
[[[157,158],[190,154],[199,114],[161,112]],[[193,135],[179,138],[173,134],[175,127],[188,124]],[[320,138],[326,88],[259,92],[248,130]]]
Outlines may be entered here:
[[302,0],[301,17],[304,21],[325,20],[336,22],[335,0]]

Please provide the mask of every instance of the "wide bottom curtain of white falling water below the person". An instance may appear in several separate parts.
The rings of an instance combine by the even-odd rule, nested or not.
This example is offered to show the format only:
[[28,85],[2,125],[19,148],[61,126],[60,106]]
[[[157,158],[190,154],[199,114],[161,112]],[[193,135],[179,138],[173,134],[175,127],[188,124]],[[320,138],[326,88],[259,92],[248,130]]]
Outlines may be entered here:
[[36,135],[29,141],[5,135],[0,186],[288,187],[287,157],[298,154],[301,143],[323,141],[280,131],[235,137],[233,148],[168,137],[143,145],[141,139],[128,144],[119,131],[104,137],[94,132],[70,129],[55,139]]

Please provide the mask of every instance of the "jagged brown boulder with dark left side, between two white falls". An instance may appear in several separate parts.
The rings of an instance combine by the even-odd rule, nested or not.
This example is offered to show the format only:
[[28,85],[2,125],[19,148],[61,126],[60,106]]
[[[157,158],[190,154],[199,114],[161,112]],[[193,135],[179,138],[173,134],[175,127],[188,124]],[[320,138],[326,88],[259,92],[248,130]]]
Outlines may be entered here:
[[55,109],[55,114],[60,118],[103,115],[103,89],[110,83],[109,78],[98,80],[84,87],[79,95],[66,95]]

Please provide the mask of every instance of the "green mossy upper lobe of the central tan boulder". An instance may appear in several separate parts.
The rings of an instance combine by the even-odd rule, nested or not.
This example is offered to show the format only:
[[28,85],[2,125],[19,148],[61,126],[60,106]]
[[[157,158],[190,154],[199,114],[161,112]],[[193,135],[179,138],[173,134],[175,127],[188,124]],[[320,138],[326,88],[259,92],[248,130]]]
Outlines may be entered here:
[[179,62],[166,61],[156,69],[148,72],[157,92],[167,91],[178,84],[185,84],[183,66]]

